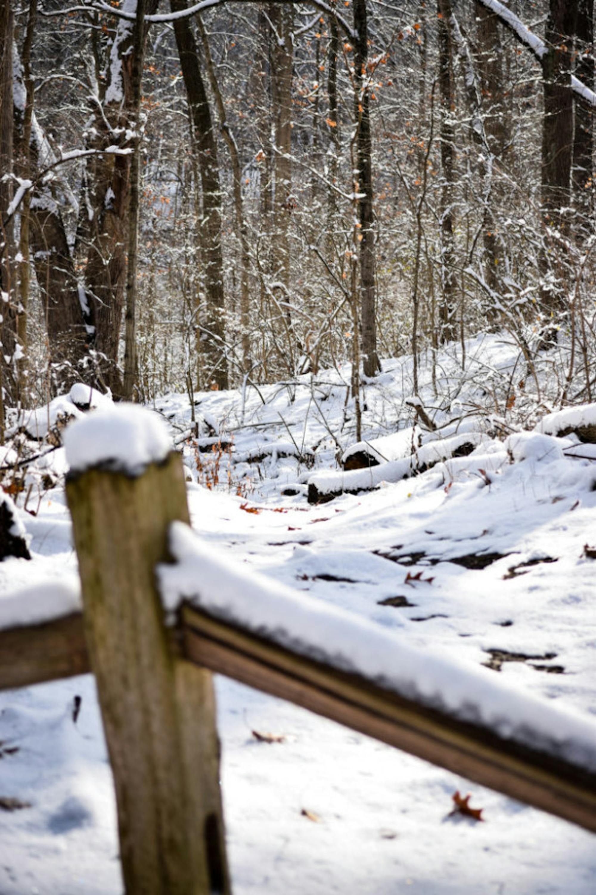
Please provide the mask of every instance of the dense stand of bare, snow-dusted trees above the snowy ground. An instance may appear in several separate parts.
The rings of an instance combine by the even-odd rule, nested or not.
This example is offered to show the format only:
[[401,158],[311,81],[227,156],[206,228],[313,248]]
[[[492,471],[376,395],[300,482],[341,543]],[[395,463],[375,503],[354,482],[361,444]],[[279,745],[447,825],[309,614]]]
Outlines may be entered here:
[[198,6],[2,6],[3,420],[487,326],[591,398],[592,0]]

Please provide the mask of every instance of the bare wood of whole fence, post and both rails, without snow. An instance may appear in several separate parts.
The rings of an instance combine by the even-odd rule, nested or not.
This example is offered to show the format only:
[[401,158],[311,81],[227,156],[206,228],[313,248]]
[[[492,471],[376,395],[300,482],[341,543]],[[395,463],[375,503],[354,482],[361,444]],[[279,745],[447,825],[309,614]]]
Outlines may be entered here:
[[180,456],[90,469],[67,496],[84,612],[0,631],[0,689],[92,669],[113,767],[127,895],[231,891],[211,672],[235,678],[596,832],[596,773],[182,606],[155,566],[188,522]]

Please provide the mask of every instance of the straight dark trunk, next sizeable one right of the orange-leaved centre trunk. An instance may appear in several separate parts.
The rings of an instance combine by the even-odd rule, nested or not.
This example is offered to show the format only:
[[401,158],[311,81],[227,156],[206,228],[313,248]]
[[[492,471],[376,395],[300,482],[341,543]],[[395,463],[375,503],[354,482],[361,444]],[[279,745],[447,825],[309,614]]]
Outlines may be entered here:
[[457,337],[455,239],[453,202],[455,190],[455,131],[453,115],[453,48],[450,34],[451,0],[439,0],[439,87],[441,90],[441,303],[439,304],[439,341]]

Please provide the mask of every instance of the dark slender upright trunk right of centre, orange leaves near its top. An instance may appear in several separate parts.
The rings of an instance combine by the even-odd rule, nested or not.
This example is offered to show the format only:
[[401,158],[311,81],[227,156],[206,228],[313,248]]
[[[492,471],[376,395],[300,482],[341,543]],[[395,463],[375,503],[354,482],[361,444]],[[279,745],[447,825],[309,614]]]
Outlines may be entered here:
[[[358,239],[360,242],[360,306],[362,357],[365,376],[374,376],[381,369],[376,347],[376,282],[374,255],[373,208],[373,141],[370,122],[370,90],[368,63],[368,23],[366,0],[354,0],[354,114],[357,123]],[[354,334],[357,337],[357,334]]]

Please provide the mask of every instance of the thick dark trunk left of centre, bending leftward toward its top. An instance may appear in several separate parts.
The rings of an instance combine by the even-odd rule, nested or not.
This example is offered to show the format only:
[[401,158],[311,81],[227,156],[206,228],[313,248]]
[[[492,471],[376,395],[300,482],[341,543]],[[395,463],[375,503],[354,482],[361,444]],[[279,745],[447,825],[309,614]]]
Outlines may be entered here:
[[[170,0],[172,13],[186,9],[186,0]],[[211,110],[198,63],[197,43],[188,18],[174,20],[176,45],[193,123],[195,152],[201,178],[201,231],[205,257],[206,319],[199,327],[199,354],[206,359],[207,385],[228,388],[225,354],[222,260],[222,192]]]

